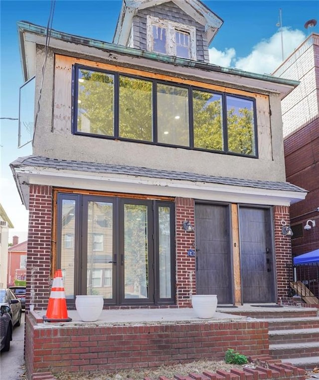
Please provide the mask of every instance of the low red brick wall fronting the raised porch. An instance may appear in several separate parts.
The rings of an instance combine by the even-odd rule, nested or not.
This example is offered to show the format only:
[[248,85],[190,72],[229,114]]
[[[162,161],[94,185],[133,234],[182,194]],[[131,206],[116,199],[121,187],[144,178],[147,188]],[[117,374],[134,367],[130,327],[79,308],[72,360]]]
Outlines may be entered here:
[[59,326],[37,324],[35,313],[28,313],[25,321],[28,374],[221,360],[228,348],[247,356],[269,355],[268,323],[262,321]]

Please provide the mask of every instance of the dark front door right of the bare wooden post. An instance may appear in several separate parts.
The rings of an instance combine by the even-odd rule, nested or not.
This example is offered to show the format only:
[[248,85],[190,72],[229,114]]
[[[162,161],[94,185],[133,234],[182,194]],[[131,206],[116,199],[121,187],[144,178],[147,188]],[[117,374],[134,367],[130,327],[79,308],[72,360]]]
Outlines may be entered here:
[[239,223],[243,302],[275,302],[270,210],[240,207]]

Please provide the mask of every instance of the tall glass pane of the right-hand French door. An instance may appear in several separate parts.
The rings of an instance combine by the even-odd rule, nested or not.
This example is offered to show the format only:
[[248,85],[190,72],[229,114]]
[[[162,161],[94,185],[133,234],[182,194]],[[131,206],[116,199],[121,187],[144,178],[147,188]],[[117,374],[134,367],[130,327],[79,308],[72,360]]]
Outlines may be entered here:
[[148,207],[124,206],[125,298],[149,297]]

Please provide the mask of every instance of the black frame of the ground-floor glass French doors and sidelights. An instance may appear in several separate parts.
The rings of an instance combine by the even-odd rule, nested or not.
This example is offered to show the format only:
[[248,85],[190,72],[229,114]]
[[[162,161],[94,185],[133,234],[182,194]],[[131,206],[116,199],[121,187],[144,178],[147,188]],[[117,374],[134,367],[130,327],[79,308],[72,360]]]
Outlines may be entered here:
[[[74,220],[74,299],[67,298],[67,305],[75,306],[75,296],[86,294],[87,287],[87,205],[90,201],[108,202],[113,204],[113,269],[112,269],[112,299],[104,299],[105,306],[129,306],[129,305],[175,305],[175,214],[174,202],[165,200],[148,200],[127,197],[112,197],[109,195],[88,195],[73,194],[68,192],[57,192],[57,244],[56,244],[56,267],[61,267],[61,252],[64,242],[62,241],[62,203],[63,200],[75,201],[75,220]],[[124,254],[124,205],[137,204],[148,207],[148,241],[149,241],[149,276],[150,289],[149,298],[144,299],[125,299],[124,298],[124,266],[122,265]],[[171,297],[160,298],[159,288],[159,207],[169,208],[170,225],[170,278],[171,278]],[[102,275],[102,282],[103,282]]]

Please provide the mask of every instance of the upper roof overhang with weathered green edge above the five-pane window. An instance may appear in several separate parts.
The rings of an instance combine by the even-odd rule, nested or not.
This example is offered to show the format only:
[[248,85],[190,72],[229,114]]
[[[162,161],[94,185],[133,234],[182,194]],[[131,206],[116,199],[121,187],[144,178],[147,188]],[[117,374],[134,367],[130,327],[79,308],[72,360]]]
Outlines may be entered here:
[[[28,80],[35,75],[36,45],[45,45],[46,28],[20,21],[18,31],[23,75],[24,79]],[[174,76],[187,76],[194,80],[211,81],[257,92],[277,93],[281,97],[286,96],[299,84],[296,80],[151,53],[56,30],[51,31],[50,47],[59,54],[77,56],[81,51],[81,55],[92,57],[92,60],[98,59],[142,70],[147,68],[149,71],[167,75],[174,72]]]

